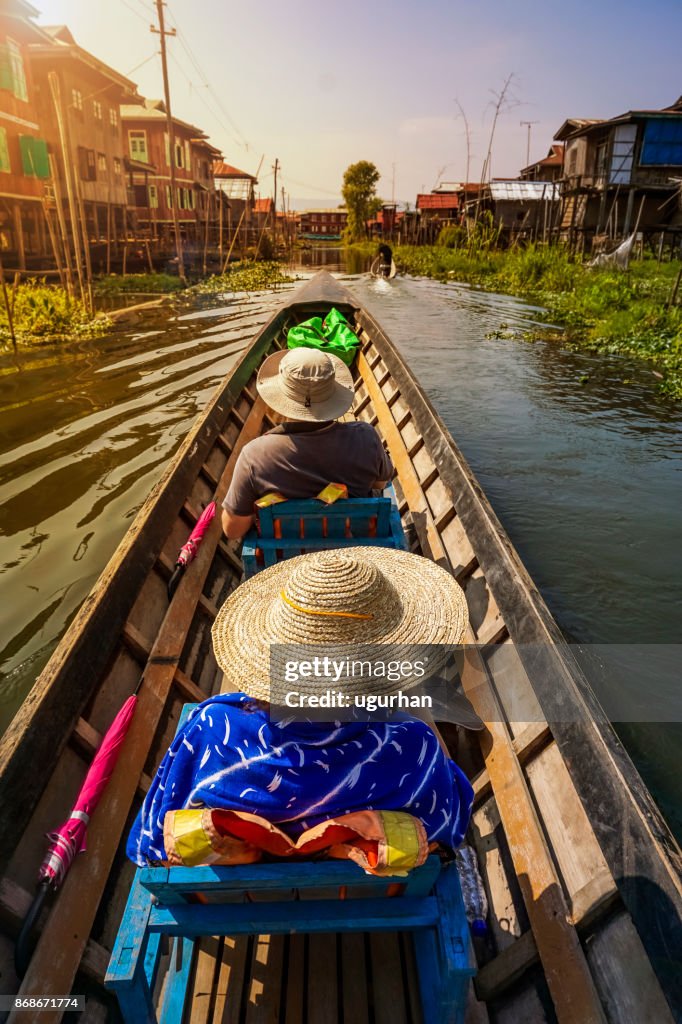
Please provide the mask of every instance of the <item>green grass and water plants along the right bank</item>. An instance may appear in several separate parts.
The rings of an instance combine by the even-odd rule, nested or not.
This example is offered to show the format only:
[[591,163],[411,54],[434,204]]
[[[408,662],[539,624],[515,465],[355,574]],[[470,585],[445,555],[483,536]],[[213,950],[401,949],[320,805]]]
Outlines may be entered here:
[[528,337],[560,337],[580,348],[646,359],[662,378],[659,390],[682,398],[682,288],[671,303],[680,261],[637,260],[624,271],[590,267],[556,246],[471,252],[442,244],[399,246],[395,260],[407,273],[463,282],[543,306],[561,333],[542,329]]

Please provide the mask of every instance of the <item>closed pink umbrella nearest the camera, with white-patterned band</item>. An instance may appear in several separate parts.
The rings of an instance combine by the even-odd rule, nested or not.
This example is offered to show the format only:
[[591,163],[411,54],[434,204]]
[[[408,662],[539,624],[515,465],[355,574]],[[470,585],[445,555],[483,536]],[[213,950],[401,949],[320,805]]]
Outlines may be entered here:
[[[140,680],[141,682],[141,680]],[[131,719],[135,713],[137,692],[128,697],[121,711],[112,722],[99,750],[88,768],[85,781],[74,803],[74,808],[65,823],[56,831],[48,833],[51,846],[38,871],[38,892],[24,919],[22,931],[16,941],[14,964],[19,978],[26,974],[31,955],[28,940],[35,922],[42,909],[50,889],[58,889],[63,882],[77,853],[85,850],[85,836],[90,817],[99,803],[106,783],[114,774],[119,751],[126,737]]]

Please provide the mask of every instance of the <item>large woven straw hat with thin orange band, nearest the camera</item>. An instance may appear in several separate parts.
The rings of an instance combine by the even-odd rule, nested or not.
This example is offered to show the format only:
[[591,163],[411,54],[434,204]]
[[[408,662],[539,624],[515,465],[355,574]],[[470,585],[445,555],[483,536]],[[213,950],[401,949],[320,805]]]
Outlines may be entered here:
[[[213,650],[227,687],[270,700],[270,645],[305,645],[310,654],[353,659],[367,645],[381,644],[385,662],[410,662],[413,647],[417,659],[424,653],[419,645],[443,645],[431,652],[431,675],[462,643],[467,623],[462,588],[435,562],[389,548],[343,548],[300,555],[245,581],[218,612]],[[397,680],[342,674],[333,687],[348,695],[383,694],[420,681],[411,673]],[[284,680],[273,682],[279,689]],[[308,679],[289,688],[329,686],[329,679]]]

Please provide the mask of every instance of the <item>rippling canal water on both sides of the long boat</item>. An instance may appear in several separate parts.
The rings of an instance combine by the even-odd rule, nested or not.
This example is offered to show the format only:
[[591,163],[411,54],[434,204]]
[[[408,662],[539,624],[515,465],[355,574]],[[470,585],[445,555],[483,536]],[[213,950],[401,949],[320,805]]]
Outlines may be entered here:
[[[682,410],[641,365],[518,340],[542,311],[517,299],[372,281],[329,250],[303,259],[303,274],[322,261],[341,271],[401,349],[565,634],[639,645],[623,671],[650,721],[620,731],[682,835],[682,727],[670,709],[655,722],[642,655],[674,644],[682,621]],[[285,291],[179,302],[134,329],[23,354],[19,369],[0,362],[0,730]]]

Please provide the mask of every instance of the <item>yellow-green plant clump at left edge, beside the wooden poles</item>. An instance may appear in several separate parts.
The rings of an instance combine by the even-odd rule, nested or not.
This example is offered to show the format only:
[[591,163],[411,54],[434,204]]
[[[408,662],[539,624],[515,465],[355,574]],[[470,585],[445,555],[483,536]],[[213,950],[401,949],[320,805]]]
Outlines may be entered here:
[[[11,294],[9,297],[11,302]],[[92,316],[80,299],[71,298],[63,288],[46,285],[44,281],[29,281],[16,288],[12,319],[19,345],[95,338],[111,327],[108,316]],[[0,344],[4,348],[11,345],[4,302],[0,302]]]

